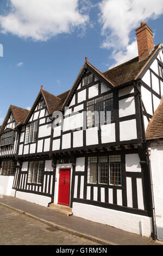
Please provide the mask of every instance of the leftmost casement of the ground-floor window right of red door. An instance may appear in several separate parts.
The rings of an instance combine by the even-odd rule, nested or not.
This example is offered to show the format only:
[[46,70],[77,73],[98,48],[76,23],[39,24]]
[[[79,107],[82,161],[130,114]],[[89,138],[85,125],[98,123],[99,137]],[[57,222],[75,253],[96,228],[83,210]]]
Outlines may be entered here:
[[88,158],[87,182],[97,184],[97,157]]

